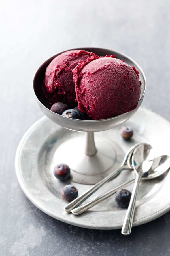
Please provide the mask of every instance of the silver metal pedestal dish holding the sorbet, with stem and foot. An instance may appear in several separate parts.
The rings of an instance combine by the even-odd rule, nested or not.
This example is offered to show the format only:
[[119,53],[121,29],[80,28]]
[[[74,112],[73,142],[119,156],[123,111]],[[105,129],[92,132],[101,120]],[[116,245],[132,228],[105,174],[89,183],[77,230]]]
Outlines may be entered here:
[[77,135],[74,139],[68,138],[56,149],[56,164],[62,162],[68,164],[71,168],[71,178],[73,181],[83,184],[95,184],[120,166],[124,158],[124,152],[114,142],[114,138],[106,139],[104,136],[96,136],[94,139],[94,132],[112,129],[133,116],[142,103],[145,94],[146,79],[141,67],[122,53],[102,48],[83,49],[92,51],[99,56],[114,54],[116,58],[124,60],[131,67],[135,66],[139,71],[140,81],[142,82],[141,96],[135,110],[109,119],[85,121],[69,119],[50,111],[48,100],[42,94],[42,83],[45,77],[46,67],[54,57],[61,53],[44,62],[35,74],[33,81],[34,92],[42,112],[54,123],[64,128],[86,133],[86,139],[83,139],[81,135]]

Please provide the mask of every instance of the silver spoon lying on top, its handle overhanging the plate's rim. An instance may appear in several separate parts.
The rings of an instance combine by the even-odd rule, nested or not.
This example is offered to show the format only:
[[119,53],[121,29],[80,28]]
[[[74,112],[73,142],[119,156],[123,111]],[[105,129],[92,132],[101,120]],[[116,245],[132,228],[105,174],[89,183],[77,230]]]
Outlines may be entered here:
[[122,234],[129,235],[131,232],[133,216],[135,212],[135,203],[137,198],[137,192],[139,182],[142,176],[148,172],[153,164],[154,151],[150,145],[139,145],[135,148],[132,155],[132,165],[136,173],[135,184],[133,187],[130,203],[126,212],[125,220],[122,227]]

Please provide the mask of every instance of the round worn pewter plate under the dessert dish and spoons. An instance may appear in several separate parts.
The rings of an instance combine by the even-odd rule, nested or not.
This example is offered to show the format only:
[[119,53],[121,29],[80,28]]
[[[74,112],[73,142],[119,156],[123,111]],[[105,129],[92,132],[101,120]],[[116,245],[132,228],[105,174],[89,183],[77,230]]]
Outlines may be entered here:
[[[124,141],[120,136],[121,125],[108,131],[97,132],[95,136],[98,138],[105,136],[116,141],[124,152],[136,143],[146,142],[152,145],[155,156],[170,155],[170,123],[167,120],[154,112],[139,108],[125,125],[129,125],[134,130],[130,142]],[[47,117],[37,121],[25,133],[16,152],[18,182],[29,200],[53,218],[84,228],[122,228],[126,209],[116,205],[114,195],[79,216],[63,210],[68,203],[61,195],[65,185],[73,184],[78,189],[79,195],[90,187],[90,185],[74,183],[70,179],[59,181],[53,174],[54,166],[58,164],[54,160],[56,149],[68,138],[77,136],[84,136],[84,133],[60,127]],[[74,150],[76,154],[78,148]],[[96,191],[88,200],[134,177],[134,171],[124,171]],[[133,226],[154,220],[170,210],[169,184],[170,173],[153,180],[141,181]],[[132,191],[133,184],[127,189]]]

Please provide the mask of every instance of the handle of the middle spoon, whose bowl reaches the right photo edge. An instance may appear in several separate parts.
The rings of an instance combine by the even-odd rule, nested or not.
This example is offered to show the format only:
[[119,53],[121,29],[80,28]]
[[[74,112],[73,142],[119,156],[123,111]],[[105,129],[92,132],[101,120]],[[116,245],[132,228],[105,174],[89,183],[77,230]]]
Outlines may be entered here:
[[135,182],[135,179],[131,180],[131,181],[128,181],[108,192],[106,192],[105,194],[91,200],[90,202],[84,204],[84,205],[80,205],[79,207],[77,208],[74,208],[71,212],[74,214],[74,215],[79,215],[83,212],[86,212],[86,210],[90,209],[91,207],[93,207],[94,205],[97,205],[98,203],[100,203],[101,201],[103,201],[104,199],[110,197],[111,195],[113,195],[114,193],[116,193],[116,191],[118,191],[119,189],[122,189],[124,187],[127,187],[128,185],[132,184],[133,182]]

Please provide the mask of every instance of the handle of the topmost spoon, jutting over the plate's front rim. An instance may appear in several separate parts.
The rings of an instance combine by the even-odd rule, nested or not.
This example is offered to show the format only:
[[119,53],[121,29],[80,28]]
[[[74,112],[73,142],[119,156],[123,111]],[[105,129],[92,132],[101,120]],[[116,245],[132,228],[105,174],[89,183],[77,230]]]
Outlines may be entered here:
[[137,176],[135,180],[135,184],[133,187],[130,203],[128,210],[126,212],[126,216],[124,219],[123,227],[122,227],[122,234],[123,235],[129,235],[131,233],[132,223],[133,223],[133,216],[135,212],[135,204],[136,204],[136,198],[137,198],[137,192],[139,187],[139,182],[141,180],[142,174]]

